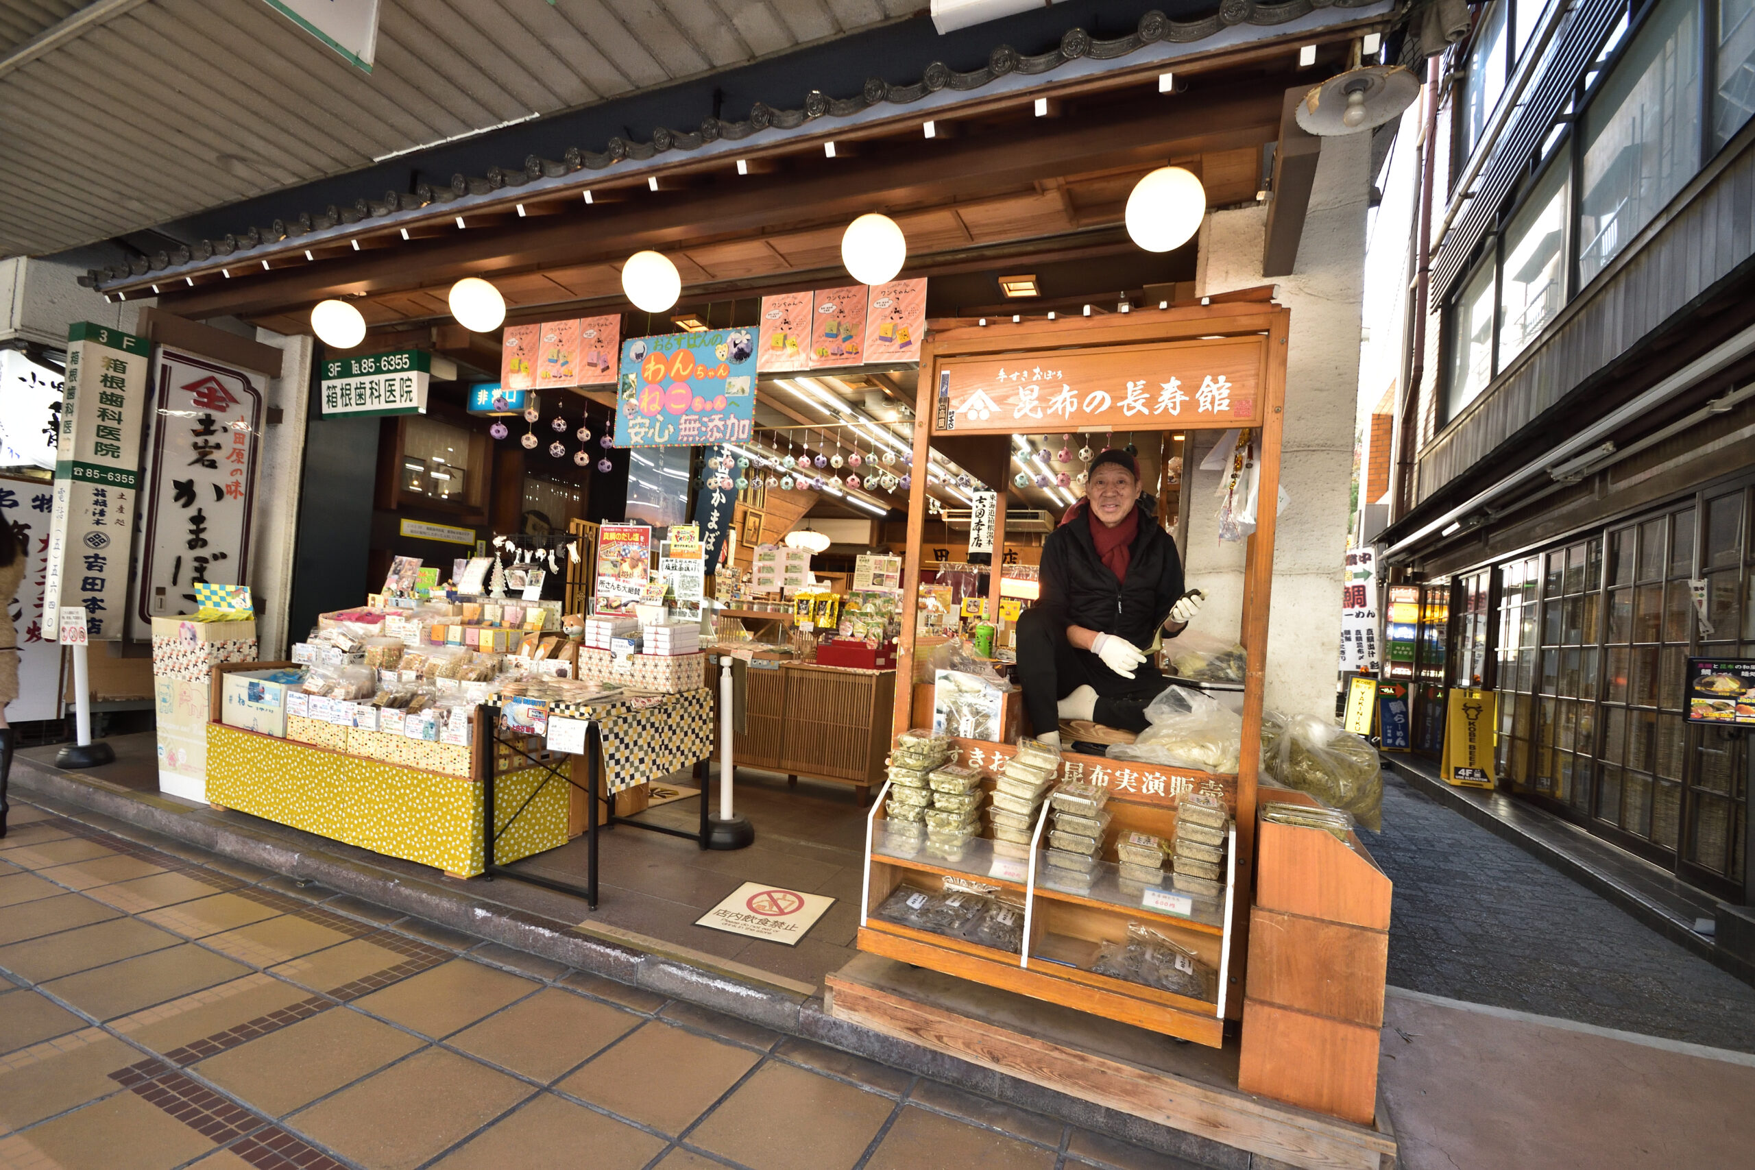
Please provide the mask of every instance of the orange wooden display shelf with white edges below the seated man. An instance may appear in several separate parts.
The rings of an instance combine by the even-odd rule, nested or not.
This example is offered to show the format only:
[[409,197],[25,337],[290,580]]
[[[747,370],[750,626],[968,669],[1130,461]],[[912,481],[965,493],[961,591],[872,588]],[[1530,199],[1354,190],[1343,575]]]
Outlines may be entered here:
[[[992,779],[986,781],[992,788]],[[1023,860],[1021,881],[1009,868],[1016,861],[993,853],[993,840],[974,838],[969,853],[946,865],[942,858],[918,853],[897,853],[888,840],[885,819],[886,782],[874,802],[867,821],[865,898],[860,916],[858,947],[914,967],[927,967],[962,979],[976,979],[990,986],[1016,991],[1049,1003],[1064,1003],[1079,1010],[1121,1019],[1164,1035],[1195,1040],[1211,1047],[1223,1042],[1225,1009],[1234,996],[1228,989],[1228,954],[1232,933],[1232,902],[1236,895],[1236,863],[1227,863],[1227,891],[1216,916],[1183,917],[1151,910],[1125,900],[1120,886],[1114,896],[1104,896],[1107,884],[1099,877],[1090,893],[1053,889],[1042,881],[1041,844],[1046,837],[1049,810],[1042,810],[1035,826],[1030,858]],[[1107,853],[1113,854],[1116,833],[1139,828],[1164,831],[1165,821],[1174,826],[1174,814],[1157,805],[1128,805],[1111,800],[1113,814]],[[1236,856],[1236,831],[1228,835],[1228,858]],[[1111,861],[1100,868],[1118,875]],[[999,875],[995,875],[995,872]],[[995,951],[876,917],[876,910],[899,886],[920,889],[941,888],[935,877],[955,875],[981,881],[1025,898],[1023,952]],[[1111,879],[1113,881],[1113,879]],[[1097,895],[1097,896],[1092,896]],[[1213,972],[1213,1000],[1197,1000],[1172,991],[1150,988],[1127,979],[1100,975],[1090,967],[1106,942],[1125,942],[1128,923],[1144,923],[1178,944],[1193,951]]]

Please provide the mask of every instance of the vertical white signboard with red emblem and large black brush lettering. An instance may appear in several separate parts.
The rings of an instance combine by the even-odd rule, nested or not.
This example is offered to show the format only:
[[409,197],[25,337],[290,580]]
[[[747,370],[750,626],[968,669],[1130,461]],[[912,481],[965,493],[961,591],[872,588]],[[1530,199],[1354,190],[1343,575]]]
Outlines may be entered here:
[[135,616],[193,614],[198,584],[249,584],[261,391],[242,370],[160,346]]

